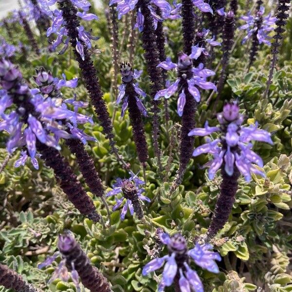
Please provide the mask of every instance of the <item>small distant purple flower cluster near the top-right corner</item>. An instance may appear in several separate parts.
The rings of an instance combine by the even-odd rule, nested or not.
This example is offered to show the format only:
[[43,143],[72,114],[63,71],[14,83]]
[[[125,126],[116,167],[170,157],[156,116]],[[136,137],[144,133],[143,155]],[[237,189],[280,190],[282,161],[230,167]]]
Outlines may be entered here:
[[265,13],[265,7],[261,6],[260,10],[256,13],[256,16],[252,16],[251,12],[249,12],[246,16],[242,16],[240,19],[244,20],[246,24],[241,25],[239,29],[246,30],[247,35],[243,38],[242,43],[246,43],[246,41],[253,36],[253,34],[257,31],[257,39],[258,42],[264,43],[268,46],[271,45],[269,34],[274,30],[274,24],[277,18],[272,17],[271,13],[263,18],[262,25],[260,28],[257,28],[256,22],[258,18],[263,17]]

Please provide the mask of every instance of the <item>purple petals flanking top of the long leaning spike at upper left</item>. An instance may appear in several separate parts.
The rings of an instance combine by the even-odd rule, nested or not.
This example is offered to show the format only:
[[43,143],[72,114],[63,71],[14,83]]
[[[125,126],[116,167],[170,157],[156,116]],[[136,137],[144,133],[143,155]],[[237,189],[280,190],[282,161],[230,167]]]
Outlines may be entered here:
[[[93,19],[98,19],[98,17],[92,13],[88,13],[88,10],[91,7],[90,2],[87,0],[70,0],[73,5],[75,5],[76,8],[81,9],[81,11],[77,12],[77,16],[83,20],[90,21]],[[55,9],[53,12],[50,10],[49,6],[54,5],[56,2],[63,2],[63,0],[41,0],[41,6],[44,11],[46,11],[47,15],[52,18],[52,26],[47,31],[47,36],[51,36],[52,34],[56,34],[57,38],[53,42],[52,49],[55,51],[56,48],[64,43],[65,46],[60,51],[60,55],[64,54],[67,50],[70,42],[70,37],[68,36],[68,29],[64,26],[64,19],[63,19],[63,11]],[[91,40],[97,40],[99,37],[93,37],[89,32],[87,32],[84,28],[84,26],[80,25],[79,27],[76,27],[78,30],[78,37],[76,38],[77,44],[76,44],[76,51],[81,56],[81,58],[84,60],[84,45],[87,46],[87,48],[91,48]],[[65,38],[65,40],[64,40]]]

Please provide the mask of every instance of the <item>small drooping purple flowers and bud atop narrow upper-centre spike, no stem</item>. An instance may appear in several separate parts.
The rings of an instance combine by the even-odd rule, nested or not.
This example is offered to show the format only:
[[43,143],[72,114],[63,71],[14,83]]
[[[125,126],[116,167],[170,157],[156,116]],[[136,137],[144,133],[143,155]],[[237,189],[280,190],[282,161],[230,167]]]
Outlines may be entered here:
[[[125,97],[126,87],[128,84],[132,85],[134,91],[138,95],[141,95],[144,98],[146,97],[146,93],[139,87],[139,84],[134,83],[134,79],[138,79],[141,76],[142,72],[143,72],[143,70],[137,71],[136,69],[134,69],[134,71],[132,71],[130,66],[128,66],[126,64],[121,69],[123,84],[119,86],[119,94],[118,94],[118,98],[117,98],[117,104],[119,104],[122,101],[122,99]],[[141,100],[139,99],[138,96],[135,96],[135,99],[136,99],[138,109],[142,112],[142,114],[144,116],[146,116],[147,110],[144,107],[143,103],[141,102]],[[127,107],[128,107],[128,96],[126,96],[124,98],[124,102],[123,102],[123,106],[122,106],[122,113],[121,113],[122,117],[124,116]]]

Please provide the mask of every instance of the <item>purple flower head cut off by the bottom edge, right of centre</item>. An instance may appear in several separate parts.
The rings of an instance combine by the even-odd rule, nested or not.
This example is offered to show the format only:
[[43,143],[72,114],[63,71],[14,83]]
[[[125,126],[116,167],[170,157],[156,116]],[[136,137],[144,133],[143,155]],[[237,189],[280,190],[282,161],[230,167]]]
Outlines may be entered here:
[[220,261],[220,255],[210,251],[212,249],[210,244],[196,244],[193,249],[188,250],[185,238],[179,233],[172,237],[161,233],[160,239],[167,245],[168,255],[147,263],[142,270],[142,275],[146,276],[164,266],[162,280],[158,287],[159,292],[163,292],[165,287],[172,284],[178,292],[204,292],[199,275],[189,266],[190,261],[193,260],[196,265],[211,273],[219,273],[215,260]]

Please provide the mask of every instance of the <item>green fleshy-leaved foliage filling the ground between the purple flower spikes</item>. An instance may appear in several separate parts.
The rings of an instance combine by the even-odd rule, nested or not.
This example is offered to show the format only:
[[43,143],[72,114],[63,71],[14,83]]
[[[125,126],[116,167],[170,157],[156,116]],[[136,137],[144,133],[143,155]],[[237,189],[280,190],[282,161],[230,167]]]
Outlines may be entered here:
[[[239,2],[239,15],[246,14],[246,1]],[[271,5],[266,4],[266,9],[273,13],[275,1],[271,2]],[[94,7],[91,9],[93,11]],[[93,48],[94,66],[105,92],[104,98],[110,116],[116,111],[113,126],[120,154],[131,164],[132,170],[137,172],[140,165],[132,140],[128,113],[124,118],[121,117],[120,108],[115,105],[115,96],[112,93],[111,34],[104,12],[103,9],[96,11],[99,21],[87,23],[93,35],[101,37]],[[129,21],[128,16],[119,21],[121,62],[128,61],[128,37],[131,33]],[[33,23],[31,25],[34,27]],[[80,76],[71,50],[64,55],[48,53],[44,32],[39,34],[34,27],[38,43],[42,47],[42,54],[37,57],[30,51],[30,44],[22,27],[14,23],[11,28],[13,39],[7,39],[3,28],[0,28],[0,34],[14,45],[18,41],[25,44],[26,55],[16,54],[13,62],[18,64],[24,78],[32,87],[35,86],[32,76],[40,66],[51,70],[58,77],[62,73],[68,79]],[[180,20],[166,21],[165,33],[167,55],[176,60],[177,53],[182,49]],[[292,292],[292,18],[289,18],[287,24],[287,33],[268,100],[262,100],[261,96],[269,72],[271,49],[261,46],[254,66],[247,72],[250,44],[241,45],[242,37],[237,29],[228,80],[217,108],[214,109],[216,95],[207,103],[210,92],[204,93],[196,113],[197,126],[203,126],[206,120],[210,125],[216,125],[214,112],[222,109],[224,100],[237,99],[241,111],[247,117],[247,124],[257,121],[261,128],[272,133],[274,145],[256,143],[256,152],[265,162],[266,178],[254,176],[251,183],[240,179],[229,222],[212,241],[223,257],[219,275],[202,270],[198,273],[203,279],[206,292]],[[209,68],[214,69],[220,58],[221,52],[218,49]],[[140,85],[144,91],[149,92],[143,49],[139,41],[133,67],[143,69]],[[215,81],[217,77],[218,75],[215,76]],[[78,99],[89,101],[82,80],[77,89],[63,91],[66,98],[72,97],[73,93],[77,94]],[[148,108],[149,98],[147,95]],[[202,155],[192,159],[182,185],[169,197],[170,183],[178,169],[180,118],[176,113],[176,98],[172,97],[168,102],[171,116],[168,123],[165,122],[163,107],[161,111],[162,173],[158,171],[157,160],[153,158],[151,119],[144,119],[150,154],[145,189],[146,196],[153,200],[144,206],[145,220],[139,221],[135,216],[128,216],[120,221],[119,211],[115,211],[111,214],[110,222],[107,222],[108,229],[103,229],[98,223],[93,224],[89,219],[84,219],[67,201],[51,169],[42,163],[39,170],[30,165],[15,168],[14,163],[19,157],[19,153],[16,153],[0,173],[0,262],[9,265],[45,291],[74,292],[75,287],[70,281],[65,283],[56,279],[49,286],[46,284],[57,262],[48,269],[37,269],[38,263],[56,251],[57,235],[70,229],[90,257],[91,263],[108,277],[114,292],[156,291],[160,276],[147,278],[141,275],[141,269],[149,260],[151,251],[158,248],[156,228],[163,228],[170,234],[182,232],[191,247],[209,226],[220,184],[219,176],[210,181],[205,170],[200,168],[207,161],[207,155]],[[94,115],[92,107],[82,111]],[[85,130],[95,136],[98,142],[89,142],[86,149],[94,157],[103,183],[110,187],[116,177],[124,178],[128,174],[110,153],[109,142],[101,133],[95,117],[94,122],[94,125],[85,125]],[[5,135],[1,134],[0,162],[7,157],[5,140]],[[199,146],[202,140],[203,138],[196,137],[195,146]],[[86,187],[74,156],[65,146],[62,147],[62,154],[68,158],[78,179]],[[91,193],[89,195],[92,196]],[[101,201],[96,198],[93,200],[106,219],[106,211]],[[113,205],[115,201],[108,199],[108,203]],[[162,250],[161,253],[166,251]],[[85,290],[82,286],[82,291]],[[0,292],[2,291],[5,289],[0,287]]]

